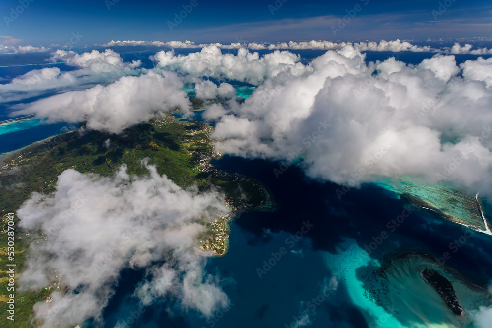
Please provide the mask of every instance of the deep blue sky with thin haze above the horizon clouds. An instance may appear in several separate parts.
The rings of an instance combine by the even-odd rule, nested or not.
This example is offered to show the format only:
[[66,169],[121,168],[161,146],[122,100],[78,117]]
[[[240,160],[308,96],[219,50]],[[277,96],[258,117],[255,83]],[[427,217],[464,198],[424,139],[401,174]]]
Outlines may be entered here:
[[[107,1],[118,2],[108,10]],[[171,31],[167,22],[191,0],[33,0],[9,26],[4,16],[11,16],[19,0],[1,0],[0,35],[36,46],[64,44],[72,32],[83,35],[81,44],[90,45],[111,40],[231,43],[241,37],[249,42],[492,37],[490,0],[447,0],[451,5],[437,19],[432,10],[443,0],[287,0],[273,15],[268,6],[275,6],[275,0],[197,1]],[[331,26],[357,4],[360,12],[334,35]]]

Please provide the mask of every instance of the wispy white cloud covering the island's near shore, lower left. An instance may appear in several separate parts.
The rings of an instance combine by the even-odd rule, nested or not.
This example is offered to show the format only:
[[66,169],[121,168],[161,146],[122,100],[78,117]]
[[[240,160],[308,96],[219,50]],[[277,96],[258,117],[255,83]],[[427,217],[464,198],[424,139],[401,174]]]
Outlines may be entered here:
[[34,305],[42,327],[101,323],[124,268],[148,268],[135,292],[145,305],[166,296],[206,317],[227,306],[218,278],[204,270],[207,258],[192,252],[204,230],[196,220],[228,212],[223,195],[181,189],[146,167],[144,177],[130,177],[124,166],[109,178],[67,170],[54,193],[34,193],[19,209],[22,228],[44,236],[31,244],[22,288],[61,286],[51,302]]

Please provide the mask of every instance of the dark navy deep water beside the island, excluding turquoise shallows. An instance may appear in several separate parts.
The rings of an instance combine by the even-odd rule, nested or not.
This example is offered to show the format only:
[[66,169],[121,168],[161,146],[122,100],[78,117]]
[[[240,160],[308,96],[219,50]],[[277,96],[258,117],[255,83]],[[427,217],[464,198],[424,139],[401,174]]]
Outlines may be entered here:
[[[224,284],[224,291],[234,305],[207,321],[193,311],[170,318],[165,308],[172,303],[163,301],[146,309],[142,318],[131,327],[270,328],[290,325],[300,315],[302,302],[306,304],[316,298],[323,280],[332,276],[325,263],[326,254],[335,253],[347,238],[355,239],[364,248],[373,237],[387,231],[387,222],[400,215],[405,205],[394,194],[376,186],[351,190],[340,200],[336,194],[337,185],[309,180],[293,167],[277,179],[273,169],[278,168],[278,164],[263,160],[225,156],[214,165],[259,179],[271,190],[279,205],[275,212],[248,212],[231,222],[228,253],[209,261],[208,272],[219,272],[222,278],[233,279],[233,283]],[[298,232],[307,221],[313,227],[290,247],[286,238]],[[382,254],[413,250],[438,258],[449,251],[448,244],[464,232],[465,228],[459,225],[416,209],[371,257],[381,260]],[[281,247],[286,247],[289,252],[260,279],[256,269],[262,268],[263,261],[269,261],[271,253],[278,252]],[[492,254],[491,239],[475,234],[446,265],[458,269],[476,283],[486,284],[492,278],[489,254]],[[358,259],[347,258],[346,261],[357,262]],[[132,285],[140,278],[141,272],[123,273],[127,283],[121,283],[117,288],[106,310],[105,327],[114,327],[118,319],[127,318],[138,309],[138,301],[131,298],[131,293]],[[336,293],[316,308],[311,327],[369,327],[363,310],[348,296],[349,288],[349,284],[338,282]]]

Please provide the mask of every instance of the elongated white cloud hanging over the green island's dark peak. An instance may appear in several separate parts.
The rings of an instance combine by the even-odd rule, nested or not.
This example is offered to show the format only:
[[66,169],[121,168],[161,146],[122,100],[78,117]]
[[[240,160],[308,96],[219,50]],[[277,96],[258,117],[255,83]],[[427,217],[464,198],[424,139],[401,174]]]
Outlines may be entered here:
[[119,133],[173,108],[188,109],[190,102],[182,88],[176,74],[162,76],[149,71],[139,77],[123,76],[106,87],[97,85],[41,99],[14,114],[36,113],[47,123],[86,121],[87,128]]

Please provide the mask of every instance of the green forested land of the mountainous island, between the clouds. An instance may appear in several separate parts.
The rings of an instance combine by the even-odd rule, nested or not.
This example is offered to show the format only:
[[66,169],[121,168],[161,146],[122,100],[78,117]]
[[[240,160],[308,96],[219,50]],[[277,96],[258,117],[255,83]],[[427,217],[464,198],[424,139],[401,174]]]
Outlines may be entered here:
[[[84,126],[79,127],[82,131]],[[211,187],[221,188],[233,209],[248,209],[261,206],[265,202],[265,189],[256,181],[238,174],[228,174],[212,168],[208,162],[217,154],[213,152],[209,134],[210,126],[202,122],[177,122],[171,117],[157,119],[147,124],[129,128],[122,134],[108,134],[98,131],[70,132],[55,137],[50,141],[23,149],[18,154],[5,160],[7,165],[0,174],[0,215],[14,212],[28,199],[32,192],[48,194],[56,187],[57,177],[64,170],[75,169],[81,173],[96,173],[103,176],[112,175],[123,164],[133,175],[148,174],[141,161],[148,158],[148,163],[157,168],[161,175],[181,187],[198,185],[204,191]],[[230,218],[224,218],[225,230]],[[17,220],[17,218],[16,218]],[[2,216],[6,222],[6,215]],[[17,221],[16,221],[17,222]],[[211,226],[212,229],[212,226]],[[15,263],[16,286],[19,272],[25,265],[25,253],[31,237],[15,225]],[[207,238],[213,239],[211,230]],[[205,237],[205,236],[204,236]],[[225,254],[227,240],[220,245]],[[7,291],[7,234],[0,235],[0,290]],[[34,327],[30,323],[33,317],[32,306],[44,299],[46,291],[19,293],[16,291],[15,322],[0,318],[0,327]],[[0,296],[2,298],[2,296]],[[3,299],[4,298],[4,299]],[[5,301],[3,296],[1,301]],[[5,304],[5,303],[4,303]]]

